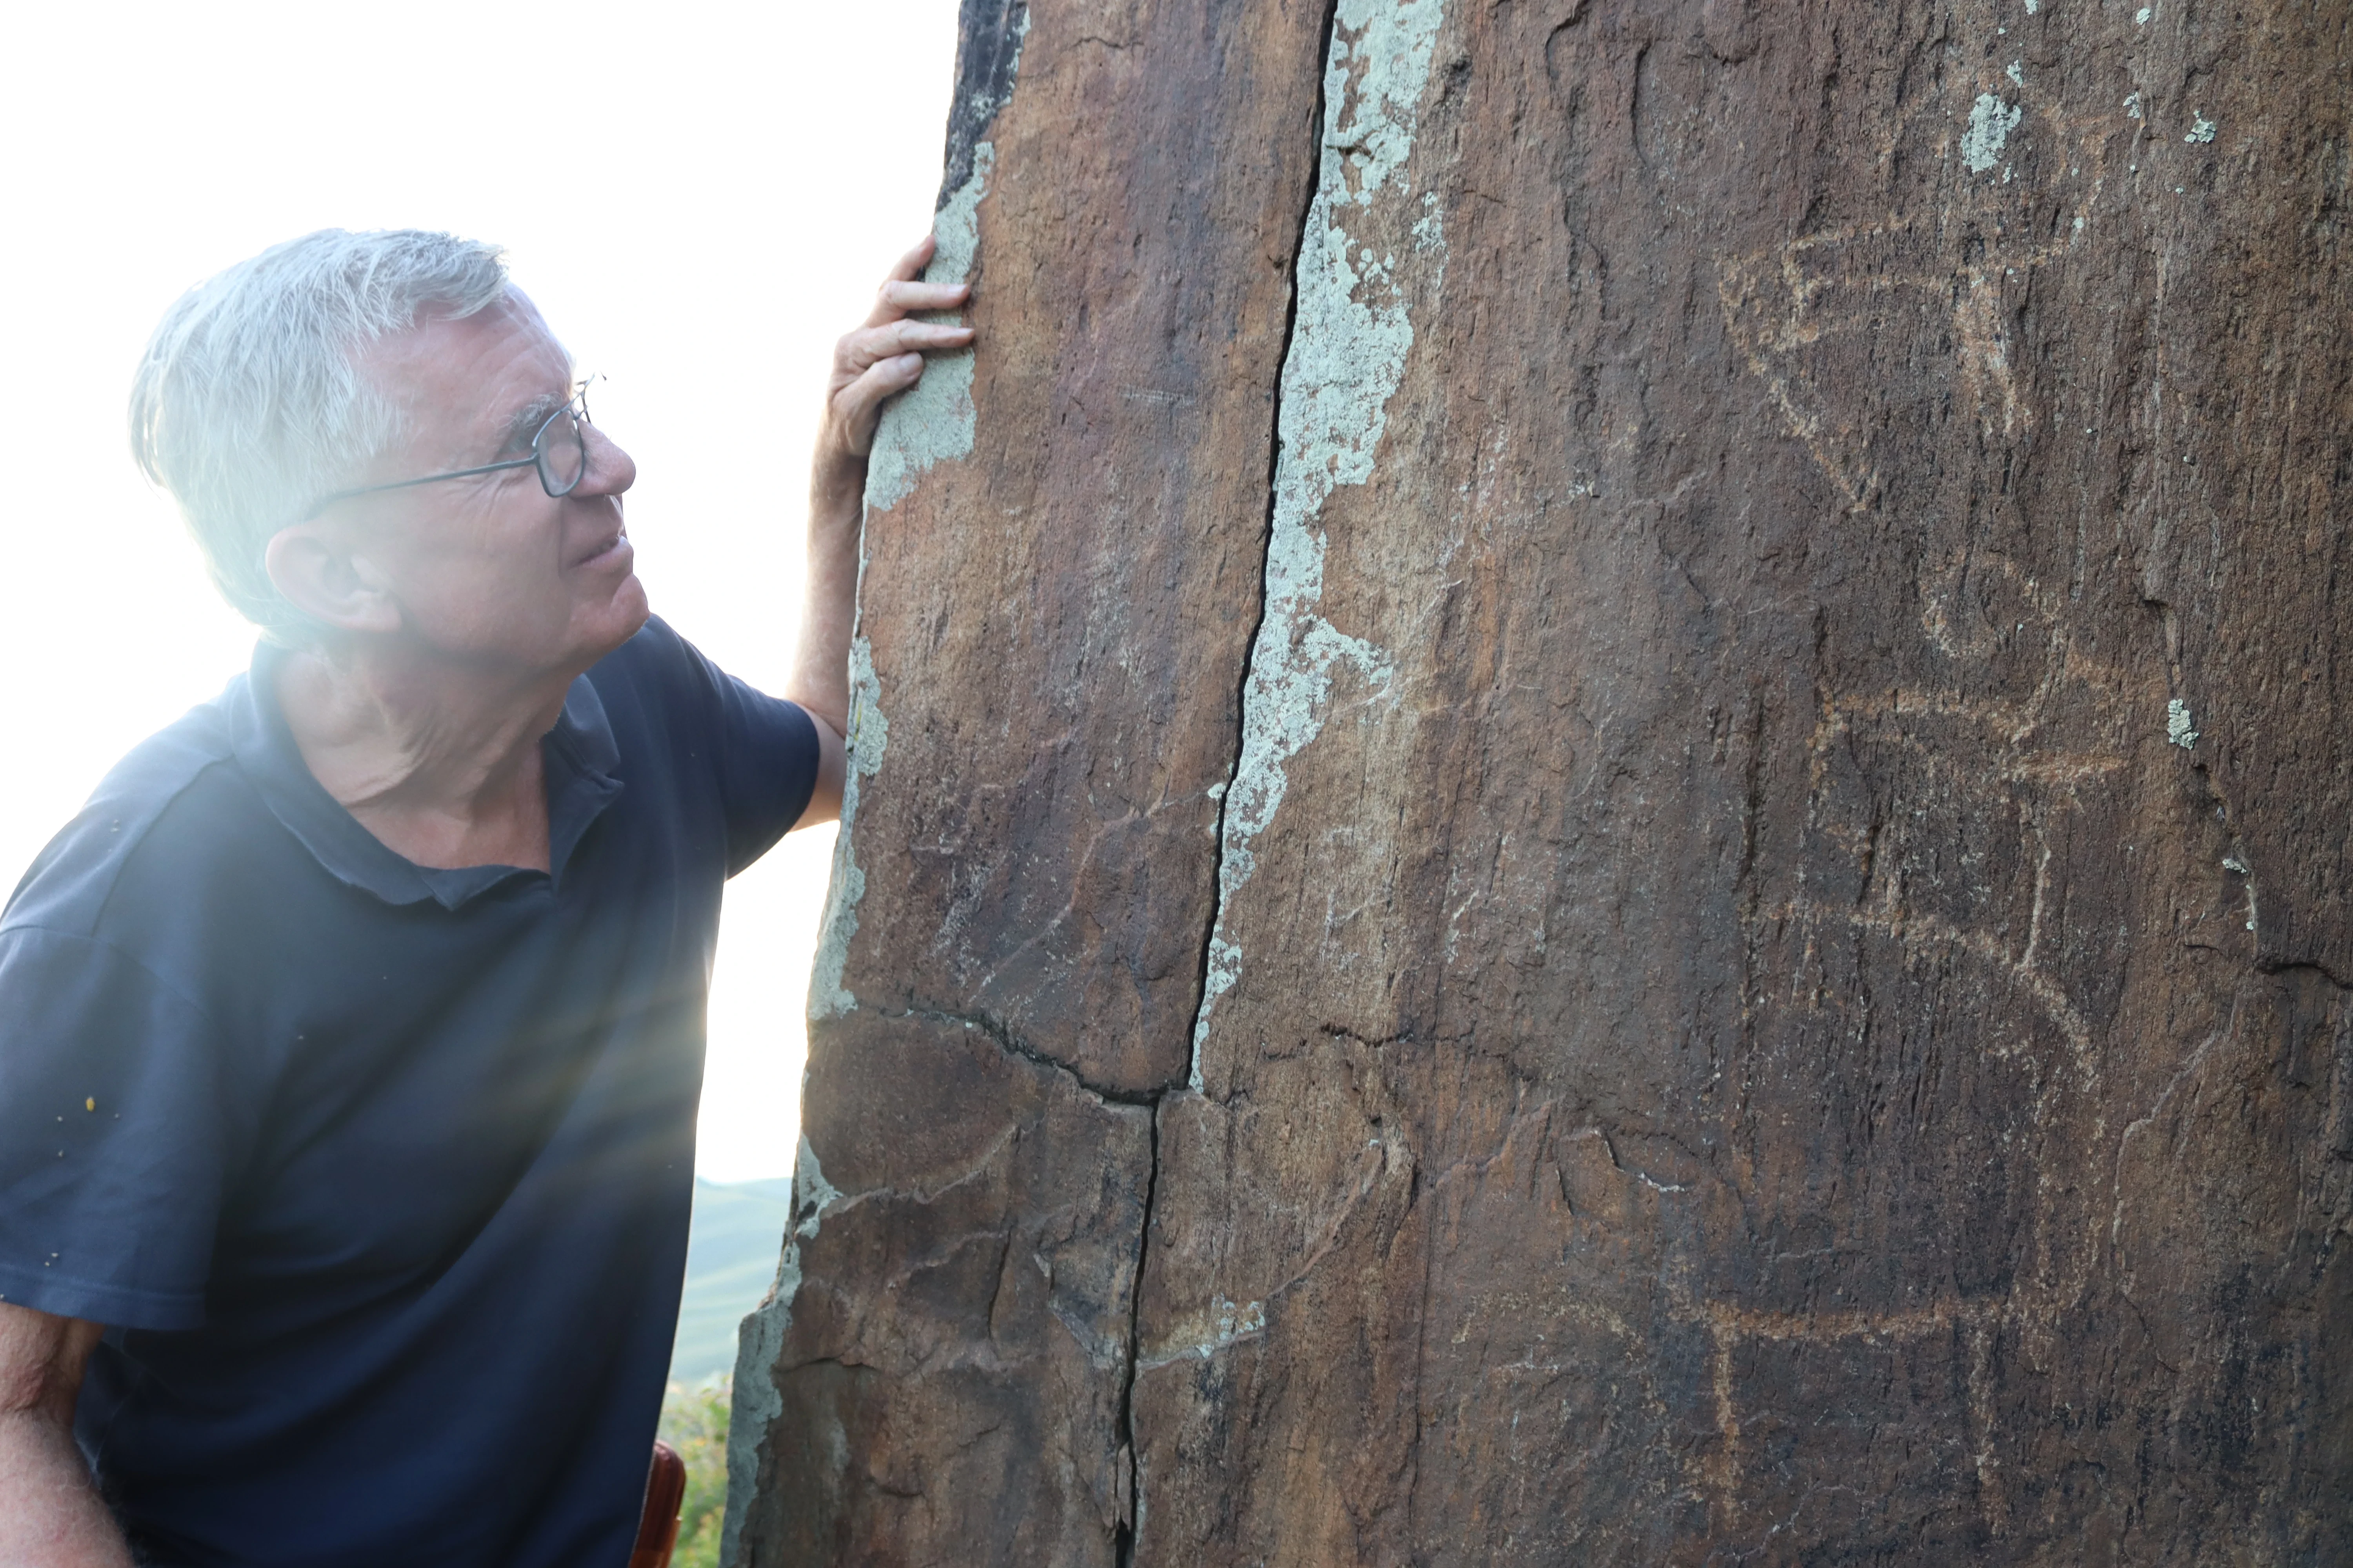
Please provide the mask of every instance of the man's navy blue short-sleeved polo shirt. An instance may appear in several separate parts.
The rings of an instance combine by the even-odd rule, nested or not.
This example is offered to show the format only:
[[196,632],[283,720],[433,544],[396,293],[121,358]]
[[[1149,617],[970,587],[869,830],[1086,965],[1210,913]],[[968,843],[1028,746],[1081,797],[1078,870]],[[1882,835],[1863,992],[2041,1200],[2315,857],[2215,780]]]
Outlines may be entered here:
[[78,1434],[144,1561],[621,1568],[720,886],[816,729],[654,621],[541,743],[553,870],[426,870],[304,766],[280,658],[0,917],[0,1298],[108,1326]]

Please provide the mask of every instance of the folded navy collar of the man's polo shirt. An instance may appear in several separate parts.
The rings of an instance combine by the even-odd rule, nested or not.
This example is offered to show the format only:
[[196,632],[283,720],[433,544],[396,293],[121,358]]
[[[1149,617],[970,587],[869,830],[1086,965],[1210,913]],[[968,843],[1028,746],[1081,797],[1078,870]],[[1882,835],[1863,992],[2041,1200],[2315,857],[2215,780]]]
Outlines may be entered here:
[[[374,893],[384,903],[409,905],[431,898],[445,910],[456,910],[504,882],[541,877],[541,872],[520,865],[464,865],[456,870],[416,865],[362,827],[339,799],[327,795],[325,785],[313,778],[311,764],[301,759],[294,731],[278,705],[278,670],[285,661],[287,649],[271,642],[254,646],[252,668],[226,696],[231,745],[238,766],[271,816],[332,877]],[[574,677],[565,693],[565,710],[558,715],[555,729],[541,738],[539,752],[548,780],[551,870],[544,879],[560,884],[565,865],[588,827],[621,795],[621,780],[614,773],[621,748],[614,743],[612,719],[605,717],[605,701],[586,675]]]

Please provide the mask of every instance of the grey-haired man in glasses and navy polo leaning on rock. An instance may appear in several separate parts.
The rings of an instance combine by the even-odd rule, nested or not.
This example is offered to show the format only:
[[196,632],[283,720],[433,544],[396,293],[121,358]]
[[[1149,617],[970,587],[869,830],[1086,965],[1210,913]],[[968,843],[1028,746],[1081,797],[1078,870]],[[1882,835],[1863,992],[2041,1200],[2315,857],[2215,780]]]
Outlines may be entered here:
[[628,1559],[720,886],[838,811],[866,451],[972,341],[927,259],[835,355],[786,701],[649,621],[496,249],[165,317],[139,461],[266,639],[0,917],[0,1563]]

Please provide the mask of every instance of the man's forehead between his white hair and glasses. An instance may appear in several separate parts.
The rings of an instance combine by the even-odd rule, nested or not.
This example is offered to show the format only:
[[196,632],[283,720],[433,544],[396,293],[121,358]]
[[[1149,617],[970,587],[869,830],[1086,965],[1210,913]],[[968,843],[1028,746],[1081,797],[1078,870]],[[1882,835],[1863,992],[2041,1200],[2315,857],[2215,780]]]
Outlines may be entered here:
[[504,442],[572,397],[572,355],[522,289],[376,339],[358,369],[400,409],[419,451]]

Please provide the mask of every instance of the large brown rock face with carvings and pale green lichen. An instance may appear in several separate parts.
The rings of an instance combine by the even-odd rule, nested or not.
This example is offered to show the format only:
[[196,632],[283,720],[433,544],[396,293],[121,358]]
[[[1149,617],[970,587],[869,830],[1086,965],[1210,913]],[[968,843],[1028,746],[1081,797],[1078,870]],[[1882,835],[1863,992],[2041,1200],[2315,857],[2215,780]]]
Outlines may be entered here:
[[734,1561],[2353,1561],[2353,9],[962,26]]

